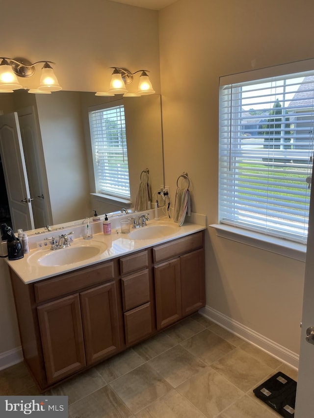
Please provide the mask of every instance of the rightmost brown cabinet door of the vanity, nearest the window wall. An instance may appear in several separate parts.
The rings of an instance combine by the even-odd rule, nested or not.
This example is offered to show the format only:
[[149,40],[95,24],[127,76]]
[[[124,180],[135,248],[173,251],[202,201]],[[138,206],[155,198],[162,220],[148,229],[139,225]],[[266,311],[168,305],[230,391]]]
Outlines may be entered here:
[[205,306],[204,249],[180,257],[183,317]]

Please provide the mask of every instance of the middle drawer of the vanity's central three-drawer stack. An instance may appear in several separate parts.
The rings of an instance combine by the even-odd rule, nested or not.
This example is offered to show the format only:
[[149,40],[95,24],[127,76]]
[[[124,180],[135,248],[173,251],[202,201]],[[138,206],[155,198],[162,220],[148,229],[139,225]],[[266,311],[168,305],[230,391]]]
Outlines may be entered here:
[[124,311],[129,311],[136,306],[149,302],[150,292],[148,270],[122,278],[121,285]]

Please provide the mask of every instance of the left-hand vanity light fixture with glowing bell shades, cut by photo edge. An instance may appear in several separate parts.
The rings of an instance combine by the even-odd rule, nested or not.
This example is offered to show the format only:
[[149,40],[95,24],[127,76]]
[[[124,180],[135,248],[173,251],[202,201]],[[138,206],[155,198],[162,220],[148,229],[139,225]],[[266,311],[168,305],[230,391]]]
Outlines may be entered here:
[[38,89],[29,89],[28,93],[50,94],[62,90],[56,76],[53,73],[52,61],[37,61],[33,64],[25,58],[0,57],[0,93],[13,93],[14,90],[23,89],[18,77],[31,77],[35,73],[35,65],[44,63],[42,67]]

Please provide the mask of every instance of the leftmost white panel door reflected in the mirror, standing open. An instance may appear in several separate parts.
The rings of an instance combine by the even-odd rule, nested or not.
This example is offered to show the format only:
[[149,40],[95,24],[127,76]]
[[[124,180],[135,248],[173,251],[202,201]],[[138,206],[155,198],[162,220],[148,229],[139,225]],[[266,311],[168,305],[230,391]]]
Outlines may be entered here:
[[13,229],[34,229],[17,113],[0,115],[0,153]]

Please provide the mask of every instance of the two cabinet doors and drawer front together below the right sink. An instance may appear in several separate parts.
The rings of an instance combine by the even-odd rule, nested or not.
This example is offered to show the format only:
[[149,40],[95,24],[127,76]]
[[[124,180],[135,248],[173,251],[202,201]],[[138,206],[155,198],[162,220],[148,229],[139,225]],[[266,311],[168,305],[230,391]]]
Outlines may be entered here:
[[[189,252],[197,247],[200,249]],[[155,260],[170,258],[155,266],[156,318],[160,330],[205,306],[203,234],[184,237],[153,250]],[[176,257],[180,251],[186,254]]]

